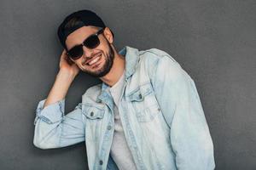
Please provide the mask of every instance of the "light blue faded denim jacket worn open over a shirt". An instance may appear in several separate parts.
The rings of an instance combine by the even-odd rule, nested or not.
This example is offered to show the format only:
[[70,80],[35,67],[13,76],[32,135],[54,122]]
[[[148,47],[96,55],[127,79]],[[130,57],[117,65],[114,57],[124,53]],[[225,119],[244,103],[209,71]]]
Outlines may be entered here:
[[[125,46],[125,88],[119,115],[138,170],[214,169],[212,138],[195,82],[166,52]],[[85,140],[92,169],[118,169],[110,156],[113,98],[102,82],[66,115],[65,99],[38,103],[33,144],[60,148]]]

